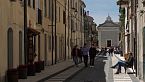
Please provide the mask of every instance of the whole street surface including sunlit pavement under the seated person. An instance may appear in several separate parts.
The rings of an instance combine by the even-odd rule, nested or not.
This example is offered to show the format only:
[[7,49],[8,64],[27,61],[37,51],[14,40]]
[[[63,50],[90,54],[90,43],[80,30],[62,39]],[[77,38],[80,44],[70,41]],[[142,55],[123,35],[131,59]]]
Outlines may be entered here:
[[123,58],[118,54],[98,55],[94,67],[84,67],[84,64],[80,63],[78,67],[72,66],[38,82],[139,82],[134,74],[128,74],[131,69],[125,73],[122,68],[120,74],[115,74],[117,69],[110,68],[118,61],[115,56]]

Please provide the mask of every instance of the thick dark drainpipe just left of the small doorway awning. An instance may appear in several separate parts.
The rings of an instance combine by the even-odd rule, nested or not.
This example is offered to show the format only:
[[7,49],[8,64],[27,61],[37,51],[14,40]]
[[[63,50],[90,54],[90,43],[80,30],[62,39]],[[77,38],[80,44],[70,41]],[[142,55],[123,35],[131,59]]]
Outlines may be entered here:
[[24,0],[24,56],[27,64],[27,0]]

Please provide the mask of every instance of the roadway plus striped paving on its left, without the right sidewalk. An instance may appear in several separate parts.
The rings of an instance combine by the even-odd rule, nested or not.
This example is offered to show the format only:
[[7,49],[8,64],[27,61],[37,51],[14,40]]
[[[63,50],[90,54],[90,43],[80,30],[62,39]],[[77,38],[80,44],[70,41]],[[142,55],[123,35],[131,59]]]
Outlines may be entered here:
[[[47,79],[45,82],[113,82],[111,62],[110,56],[99,55],[96,56],[95,67],[84,67],[82,63],[78,67],[74,66]],[[78,71],[81,68],[82,70]]]

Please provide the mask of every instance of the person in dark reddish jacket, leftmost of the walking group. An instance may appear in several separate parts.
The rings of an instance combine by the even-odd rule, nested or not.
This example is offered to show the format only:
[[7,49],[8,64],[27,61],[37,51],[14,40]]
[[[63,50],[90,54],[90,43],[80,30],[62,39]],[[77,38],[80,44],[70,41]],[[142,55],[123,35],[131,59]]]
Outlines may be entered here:
[[79,54],[80,54],[80,51],[78,49],[78,45],[76,45],[76,46],[74,46],[74,48],[72,49],[72,52],[71,52],[71,56],[72,56],[73,61],[76,66],[78,66],[78,55]]

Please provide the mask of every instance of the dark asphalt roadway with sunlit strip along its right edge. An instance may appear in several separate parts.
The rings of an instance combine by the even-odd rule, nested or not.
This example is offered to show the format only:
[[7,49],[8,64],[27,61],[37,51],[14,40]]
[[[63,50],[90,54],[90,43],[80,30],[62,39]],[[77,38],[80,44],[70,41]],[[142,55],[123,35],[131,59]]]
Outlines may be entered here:
[[95,60],[95,67],[85,68],[67,82],[113,82],[110,62],[110,57],[99,56]]

